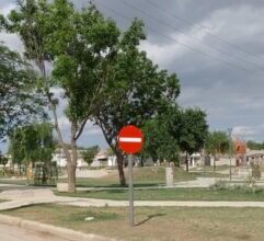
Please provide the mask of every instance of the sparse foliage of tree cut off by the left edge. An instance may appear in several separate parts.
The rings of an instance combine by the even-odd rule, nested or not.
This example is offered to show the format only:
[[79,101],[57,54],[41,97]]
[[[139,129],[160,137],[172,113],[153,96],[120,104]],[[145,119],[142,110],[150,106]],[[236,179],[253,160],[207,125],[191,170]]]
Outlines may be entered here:
[[34,81],[34,71],[20,55],[0,44],[0,140],[15,126],[45,117]]

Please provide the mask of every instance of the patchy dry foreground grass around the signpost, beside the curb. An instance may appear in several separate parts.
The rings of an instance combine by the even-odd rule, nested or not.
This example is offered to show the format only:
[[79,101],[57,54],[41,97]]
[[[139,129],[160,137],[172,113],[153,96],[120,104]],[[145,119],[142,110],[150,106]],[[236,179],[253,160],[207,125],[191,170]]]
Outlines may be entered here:
[[[124,241],[262,241],[264,208],[140,207],[136,227],[128,227],[127,208],[81,208],[39,205],[2,211],[44,223]],[[85,222],[85,217],[94,217]]]

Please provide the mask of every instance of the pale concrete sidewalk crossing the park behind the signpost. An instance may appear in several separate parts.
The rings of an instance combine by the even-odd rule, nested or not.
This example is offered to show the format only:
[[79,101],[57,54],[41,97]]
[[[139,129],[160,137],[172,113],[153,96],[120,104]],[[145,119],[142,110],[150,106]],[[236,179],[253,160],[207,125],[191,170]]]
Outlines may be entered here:
[[[14,190],[0,193],[0,210],[24,207],[33,204],[61,204],[79,207],[127,207],[126,200],[107,200],[81,197],[56,196],[50,190]],[[135,206],[159,207],[264,207],[264,202],[180,202],[140,200]]]

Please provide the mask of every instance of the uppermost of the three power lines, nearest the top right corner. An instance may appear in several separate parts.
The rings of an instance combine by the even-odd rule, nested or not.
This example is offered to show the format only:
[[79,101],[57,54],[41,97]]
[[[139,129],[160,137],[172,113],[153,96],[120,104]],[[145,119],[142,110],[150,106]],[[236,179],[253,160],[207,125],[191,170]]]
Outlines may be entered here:
[[[152,2],[151,0],[146,0],[146,1],[149,2],[151,5],[153,5],[154,8],[164,11],[167,14],[172,15],[174,19],[177,19],[177,20],[179,20],[180,22],[182,22],[184,25],[187,25],[187,26],[191,26],[191,27],[192,27],[192,26],[196,26],[196,27],[199,27],[199,28],[207,28],[207,30],[208,30],[207,26],[205,26],[205,25],[203,25],[203,24],[197,24],[197,23],[194,24],[194,23],[192,23],[192,22],[190,22],[190,21],[187,21],[187,20],[185,20],[185,19],[176,15],[174,12],[168,11],[165,8],[162,8],[161,5]],[[244,48],[242,48],[242,47],[240,47],[240,46],[237,46],[237,45],[234,45],[234,44],[232,44],[232,43],[230,43],[230,42],[227,42],[227,41],[225,41],[223,38],[215,35],[215,34],[211,34],[211,33],[208,33],[208,32],[207,32],[207,35],[210,36],[211,38],[220,42],[220,43],[223,43],[223,44],[229,45],[230,47],[232,47],[232,48],[234,48],[234,49],[237,49],[237,50],[240,50],[241,53],[244,53],[244,54],[246,54],[246,55],[250,55],[250,56],[252,56],[252,57],[254,57],[254,58],[257,58],[257,59],[264,61],[264,58],[263,58],[263,57],[256,56],[255,54],[253,54],[253,53],[251,53],[251,51],[249,51],[249,50],[246,50],[246,49],[244,49]]]

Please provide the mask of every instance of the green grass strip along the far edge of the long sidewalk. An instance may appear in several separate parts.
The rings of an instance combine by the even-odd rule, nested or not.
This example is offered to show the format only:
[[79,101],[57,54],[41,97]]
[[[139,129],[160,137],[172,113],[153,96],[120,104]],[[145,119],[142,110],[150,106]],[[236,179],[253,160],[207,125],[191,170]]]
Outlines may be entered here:
[[[57,193],[60,196],[88,197],[99,199],[127,200],[127,190],[89,191],[73,194]],[[211,188],[162,188],[135,190],[136,200],[255,200],[264,202],[264,190],[253,193],[251,190],[220,190]]]

